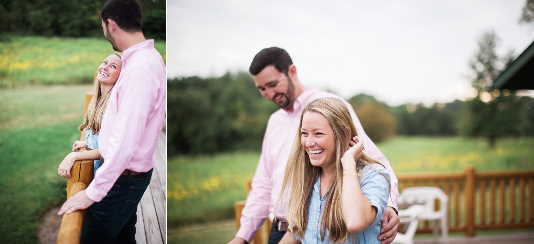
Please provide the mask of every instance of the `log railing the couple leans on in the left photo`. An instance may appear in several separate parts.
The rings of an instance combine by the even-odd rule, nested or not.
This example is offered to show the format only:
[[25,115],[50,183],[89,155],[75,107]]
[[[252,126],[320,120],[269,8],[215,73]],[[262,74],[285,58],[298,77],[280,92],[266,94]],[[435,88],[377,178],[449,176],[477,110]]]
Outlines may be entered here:
[[[91,101],[92,92],[85,93],[85,113],[89,102]],[[81,132],[80,141],[85,141],[85,130]],[[79,151],[85,151],[85,148],[80,148]],[[94,177],[95,161],[94,160],[80,160],[75,161],[72,168],[70,168],[70,178],[67,180],[67,200],[74,196],[81,190],[85,190],[91,183]],[[59,227],[57,244],[62,243],[80,243],[80,236],[82,233],[83,223],[87,216],[87,209],[76,210],[73,213],[63,215],[61,226]]]

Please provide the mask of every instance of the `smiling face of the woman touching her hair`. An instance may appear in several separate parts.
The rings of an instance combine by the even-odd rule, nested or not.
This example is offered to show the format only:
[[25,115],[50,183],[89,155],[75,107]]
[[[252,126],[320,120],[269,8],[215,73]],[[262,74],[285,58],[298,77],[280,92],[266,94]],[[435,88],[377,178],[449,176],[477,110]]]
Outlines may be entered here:
[[322,168],[334,166],[335,136],[332,126],[325,116],[317,112],[304,113],[301,142],[313,166]]

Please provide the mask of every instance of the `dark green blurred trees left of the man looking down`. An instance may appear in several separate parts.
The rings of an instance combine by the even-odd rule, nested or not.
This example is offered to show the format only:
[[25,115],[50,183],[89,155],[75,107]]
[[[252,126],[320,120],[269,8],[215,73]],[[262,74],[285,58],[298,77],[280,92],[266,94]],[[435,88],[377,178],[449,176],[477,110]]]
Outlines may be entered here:
[[271,113],[248,73],[168,79],[168,153],[260,150]]

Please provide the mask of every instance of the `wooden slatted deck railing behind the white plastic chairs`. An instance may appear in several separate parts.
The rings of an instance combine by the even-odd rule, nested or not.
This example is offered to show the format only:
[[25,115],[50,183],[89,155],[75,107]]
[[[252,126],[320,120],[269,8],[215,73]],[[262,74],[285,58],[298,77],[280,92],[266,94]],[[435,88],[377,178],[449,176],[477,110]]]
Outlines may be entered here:
[[[534,172],[476,172],[466,166],[458,173],[397,174],[399,191],[409,186],[436,186],[449,196],[449,231],[534,226]],[[488,194],[489,193],[489,194]],[[400,207],[400,206],[399,206]],[[422,221],[418,232],[431,232]]]

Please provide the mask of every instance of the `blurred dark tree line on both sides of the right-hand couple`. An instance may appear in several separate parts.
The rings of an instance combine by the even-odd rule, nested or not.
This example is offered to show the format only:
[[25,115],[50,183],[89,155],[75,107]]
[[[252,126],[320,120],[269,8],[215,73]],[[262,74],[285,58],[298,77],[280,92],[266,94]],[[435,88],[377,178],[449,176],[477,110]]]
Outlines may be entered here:
[[[497,97],[496,102],[502,100],[497,105],[497,115],[478,108],[488,104],[476,97],[429,106],[420,103],[391,107],[366,94],[348,101],[375,143],[396,135],[483,136],[478,131],[481,125],[489,123],[490,115],[496,118],[488,127],[490,131],[534,136],[534,98],[509,91],[506,94]],[[277,109],[261,96],[246,72],[213,78],[168,79],[169,155],[261,150],[267,120]]]

